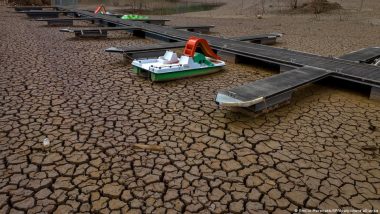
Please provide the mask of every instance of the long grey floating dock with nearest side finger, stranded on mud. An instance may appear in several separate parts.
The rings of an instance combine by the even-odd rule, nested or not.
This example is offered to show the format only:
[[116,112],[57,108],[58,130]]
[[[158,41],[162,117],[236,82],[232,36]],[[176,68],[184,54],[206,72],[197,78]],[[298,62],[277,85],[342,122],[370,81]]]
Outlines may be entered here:
[[247,43],[236,39],[181,31],[166,26],[122,20],[88,11],[64,7],[58,9],[67,13],[75,13],[76,16],[80,17],[100,18],[108,26],[139,28],[141,29],[138,33],[139,36],[152,37],[167,42],[183,42],[195,35],[206,39],[219,55],[227,57],[229,60],[252,59],[277,65],[280,70],[285,71],[285,73],[247,83],[243,86],[221,90],[217,95],[217,103],[220,105],[252,107],[255,111],[256,109],[260,110],[260,106],[263,105],[269,108],[289,101],[291,93],[298,87],[326,77],[367,85],[371,87],[370,98],[380,99],[380,67],[361,63],[379,57],[378,47],[354,52],[341,58],[324,57],[284,48]]

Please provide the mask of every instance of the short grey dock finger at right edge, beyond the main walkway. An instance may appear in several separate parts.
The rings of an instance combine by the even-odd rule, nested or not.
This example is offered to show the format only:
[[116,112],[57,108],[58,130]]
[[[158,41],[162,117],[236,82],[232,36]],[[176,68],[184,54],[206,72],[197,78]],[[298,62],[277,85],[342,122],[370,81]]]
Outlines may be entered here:
[[370,48],[364,48],[358,51],[345,54],[339,58],[353,61],[353,62],[368,63],[379,57],[380,57],[380,47],[370,47]]

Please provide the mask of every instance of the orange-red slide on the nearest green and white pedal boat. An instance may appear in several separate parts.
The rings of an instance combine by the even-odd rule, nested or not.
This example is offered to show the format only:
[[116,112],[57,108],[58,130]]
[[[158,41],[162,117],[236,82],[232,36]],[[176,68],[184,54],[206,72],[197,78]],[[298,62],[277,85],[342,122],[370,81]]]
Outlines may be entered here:
[[187,40],[185,49],[183,50],[183,55],[193,57],[195,54],[195,50],[197,49],[198,45],[200,45],[203,53],[208,56],[212,57],[214,59],[221,59],[214,51],[212,51],[210,45],[205,39],[198,38],[195,36],[192,36]]

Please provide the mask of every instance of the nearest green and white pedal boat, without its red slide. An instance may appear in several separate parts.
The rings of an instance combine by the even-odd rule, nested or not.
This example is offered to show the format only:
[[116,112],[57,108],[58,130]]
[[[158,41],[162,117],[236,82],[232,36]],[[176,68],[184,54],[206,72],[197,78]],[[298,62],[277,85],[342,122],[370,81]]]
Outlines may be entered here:
[[168,50],[156,59],[136,59],[132,62],[133,72],[149,77],[153,82],[160,82],[211,74],[225,66],[222,60],[197,52],[192,55],[178,58],[175,52]]

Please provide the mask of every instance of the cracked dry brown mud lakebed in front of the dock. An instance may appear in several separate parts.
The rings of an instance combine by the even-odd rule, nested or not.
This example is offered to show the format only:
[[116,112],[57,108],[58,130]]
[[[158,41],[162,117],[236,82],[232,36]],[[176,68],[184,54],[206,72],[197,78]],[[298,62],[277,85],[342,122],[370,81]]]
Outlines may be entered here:
[[0,16],[0,213],[380,209],[379,151],[362,149],[379,146],[380,105],[366,95],[311,85],[253,118],[214,97],[268,71],[152,84],[104,49],[153,41]]

